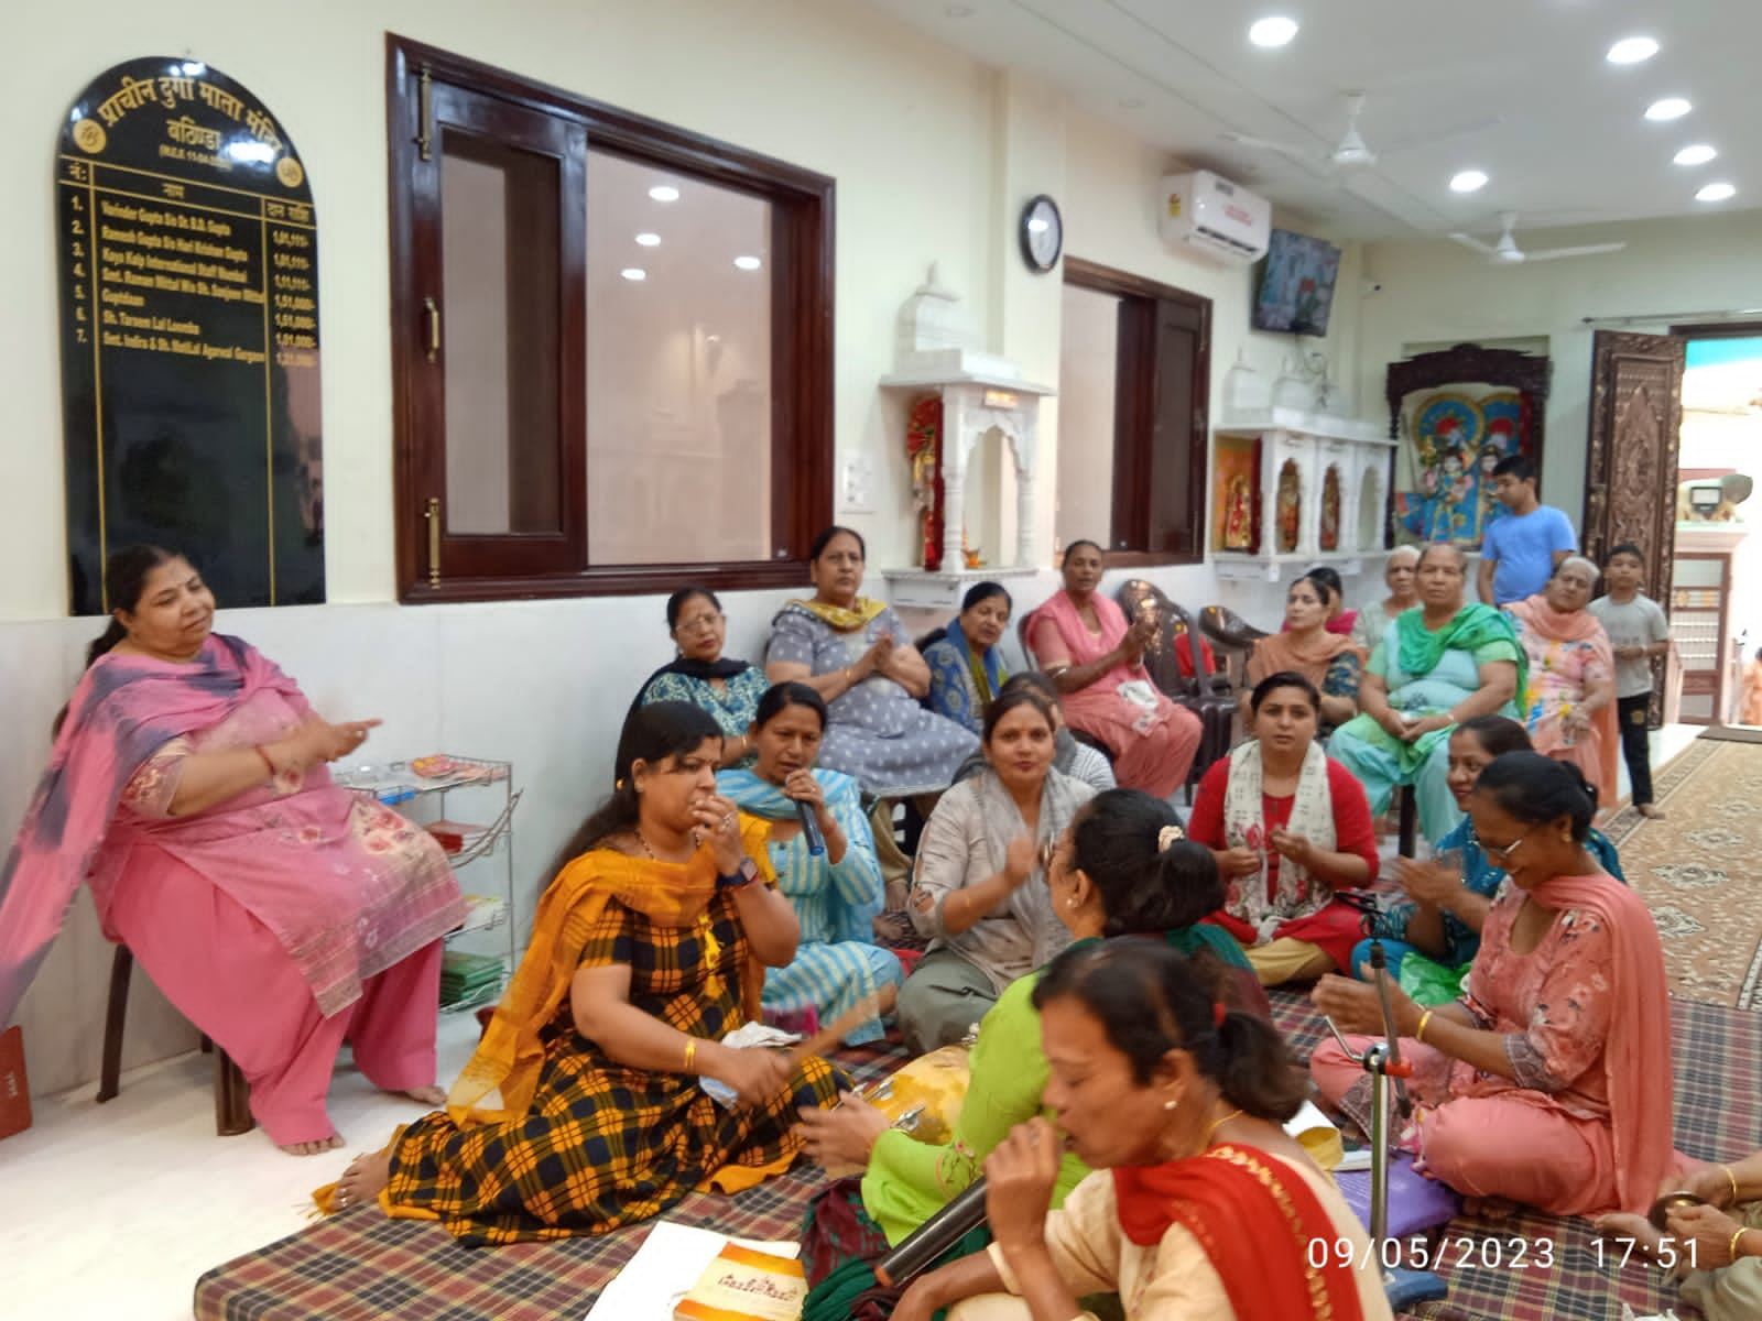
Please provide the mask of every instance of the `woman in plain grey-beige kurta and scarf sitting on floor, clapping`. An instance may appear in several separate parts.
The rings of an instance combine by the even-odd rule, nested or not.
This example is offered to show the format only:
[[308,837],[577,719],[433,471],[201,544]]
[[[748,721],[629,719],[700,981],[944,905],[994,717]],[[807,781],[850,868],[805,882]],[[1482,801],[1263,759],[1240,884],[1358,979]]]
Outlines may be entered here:
[[1004,986],[1071,942],[1047,860],[1094,789],[1052,768],[1054,733],[1038,692],[999,694],[985,710],[990,766],[943,794],[923,828],[906,907],[930,951],[899,993],[911,1050],[960,1041]]

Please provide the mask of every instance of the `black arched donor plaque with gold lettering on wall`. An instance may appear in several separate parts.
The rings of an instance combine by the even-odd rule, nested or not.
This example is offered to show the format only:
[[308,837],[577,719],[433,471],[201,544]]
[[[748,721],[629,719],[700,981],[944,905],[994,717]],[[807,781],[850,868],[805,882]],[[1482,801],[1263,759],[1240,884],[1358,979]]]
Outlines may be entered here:
[[220,606],[324,599],[319,231],[287,132],[204,63],[97,77],[55,164],[70,608],[190,557]]

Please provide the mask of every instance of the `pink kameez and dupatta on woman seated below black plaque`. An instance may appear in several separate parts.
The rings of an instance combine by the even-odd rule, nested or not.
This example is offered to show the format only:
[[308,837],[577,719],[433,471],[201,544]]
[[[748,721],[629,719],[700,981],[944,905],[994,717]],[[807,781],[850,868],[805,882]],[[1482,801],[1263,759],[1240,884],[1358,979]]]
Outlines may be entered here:
[[280,729],[310,712],[298,685],[238,638],[211,636],[187,666],[113,653],[86,671],[0,870],[0,1023],[18,1011],[81,881],[90,875],[102,916],[129,868],[152,865],[152,849],[136,861],[139,844],[208,877],[263,921],[324,1015],[463,919],[439,845],[333,786],[322,768],[305,784],[248,789],[189,817],[118,812],[159,749],[245,708],[255,715],[248,724]]

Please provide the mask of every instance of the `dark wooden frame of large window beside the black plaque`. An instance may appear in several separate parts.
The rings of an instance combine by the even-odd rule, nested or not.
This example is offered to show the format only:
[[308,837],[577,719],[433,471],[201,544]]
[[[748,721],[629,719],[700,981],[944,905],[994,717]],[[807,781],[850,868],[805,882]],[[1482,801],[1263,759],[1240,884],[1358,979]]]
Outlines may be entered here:
[[[488,572],[430,579],[423,518],[433,465],[444,470],[444,432],[425,417],[444,417],[444,358],[428,361],[428,321],[421,269],[439,268],[439,224],[418,229],[426,174],[439,167],[439,144],[423,160],[425,83],[440,81],[481,97],[553,116],[585,132],[585,150],[604,150],[692,178],[761,196],[772,204],[772,557],[738,564],[585,562],[555,572]],[[714,588],[777,588],[805,583],[809,544],[832,520],[833,481],[833,285],[835,181],[825,174],[747,151],[703,134],[578,97],[476,60],[386,33],[386,127],[391,224],[391,380],[393,491],[398,599],[405,604],[534,597],[671,592],[680,583]],[[585,171],[585,155],[581,169]],[[585,190],[581,204],[587,204]],[[421,250],[419,250],[421,248]],[[578,282],[574,289],[567,282]],[[564,340],[585,347],[587,266],[564,271]],[[567,324],[573,308],[583,324]],[[587,356],[559,382],[569,516],[587,527]],[[511,550],[518,534],[507,541]],[[493,546],[486,551],[493,557]]]

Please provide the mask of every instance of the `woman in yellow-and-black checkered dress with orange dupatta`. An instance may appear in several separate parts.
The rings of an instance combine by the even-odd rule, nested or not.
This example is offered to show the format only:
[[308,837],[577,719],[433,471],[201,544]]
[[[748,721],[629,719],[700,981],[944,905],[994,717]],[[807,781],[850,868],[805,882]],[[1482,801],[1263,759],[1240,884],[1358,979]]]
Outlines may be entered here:
[[770,823],[715,794],[721,754],[698,706],[631,713],[617,791],[564,851],[446,1111],[351,1164],[338,1207],[377,1196],[467,1244],[562,1238],[795,1159],[798,1111],[832,1103],[840,1078],[819,1059],[721,1044],[758,1018],[765,969],[798,939]]

